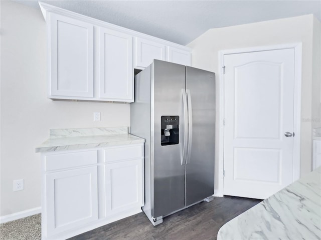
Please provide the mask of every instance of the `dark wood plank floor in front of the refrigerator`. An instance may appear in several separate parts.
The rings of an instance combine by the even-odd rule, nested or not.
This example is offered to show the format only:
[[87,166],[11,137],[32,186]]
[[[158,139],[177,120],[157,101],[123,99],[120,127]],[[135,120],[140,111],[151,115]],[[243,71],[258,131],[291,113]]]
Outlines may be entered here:
[[69,239],[216,239],[224,223],[260,201],[235,196],[214,197],[211,202],[203,201],[165,217],[163,223],[157,226],[153,226],[141,212]]

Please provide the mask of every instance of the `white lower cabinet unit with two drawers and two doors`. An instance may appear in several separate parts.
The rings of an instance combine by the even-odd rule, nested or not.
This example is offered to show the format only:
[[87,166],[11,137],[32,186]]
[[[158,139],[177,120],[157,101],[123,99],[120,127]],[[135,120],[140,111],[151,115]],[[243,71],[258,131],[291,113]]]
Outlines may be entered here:
[[42,153],[42,239],[141,212],[143,143]]

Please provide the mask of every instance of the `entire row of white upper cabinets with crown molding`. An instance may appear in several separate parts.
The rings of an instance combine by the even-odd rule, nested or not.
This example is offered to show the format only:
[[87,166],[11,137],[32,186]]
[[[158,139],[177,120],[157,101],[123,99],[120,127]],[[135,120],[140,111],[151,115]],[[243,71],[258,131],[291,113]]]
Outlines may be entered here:
[[134,101],[134,68],[190,65],[191,49],[40,2],[48,31],[48,97]]

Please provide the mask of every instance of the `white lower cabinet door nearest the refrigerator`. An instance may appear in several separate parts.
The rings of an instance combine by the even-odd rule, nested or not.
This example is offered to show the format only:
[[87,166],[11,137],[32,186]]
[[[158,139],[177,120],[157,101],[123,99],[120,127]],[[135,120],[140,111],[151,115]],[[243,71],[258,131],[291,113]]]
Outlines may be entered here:
[[106,216],[142,206],[142,159],[105,165]]

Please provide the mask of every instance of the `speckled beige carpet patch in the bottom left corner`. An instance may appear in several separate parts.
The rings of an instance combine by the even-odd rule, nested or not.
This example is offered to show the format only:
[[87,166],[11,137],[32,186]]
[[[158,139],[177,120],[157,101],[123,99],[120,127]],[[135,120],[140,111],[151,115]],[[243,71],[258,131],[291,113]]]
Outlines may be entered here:
[[41,240],[41,214],[0,224],[0,240]]

